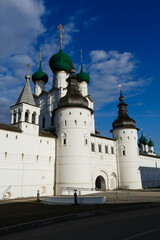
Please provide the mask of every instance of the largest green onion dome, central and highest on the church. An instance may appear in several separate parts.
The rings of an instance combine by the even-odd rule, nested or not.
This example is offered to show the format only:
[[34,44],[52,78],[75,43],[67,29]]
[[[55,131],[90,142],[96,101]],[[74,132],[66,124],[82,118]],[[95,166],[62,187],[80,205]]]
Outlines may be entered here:
[[72,59],[62,50],[54,54],[49,60],[49,66],[54,73],[57,71],[65,71],[69,73],[71,65]]

